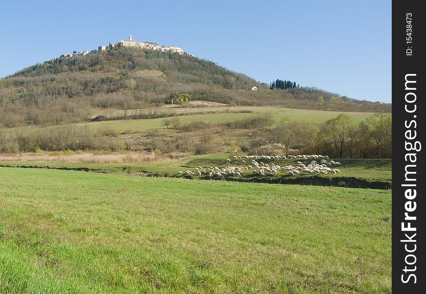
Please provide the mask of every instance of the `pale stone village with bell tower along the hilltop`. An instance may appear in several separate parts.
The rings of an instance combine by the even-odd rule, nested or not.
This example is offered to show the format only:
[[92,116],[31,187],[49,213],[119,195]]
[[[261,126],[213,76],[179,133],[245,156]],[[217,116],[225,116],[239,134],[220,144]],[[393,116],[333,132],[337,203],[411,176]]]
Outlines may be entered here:
[[110,44],[108,46],[101,45],[97,49],[93,49],[91,51],[78,51],[78,52],[73,51],[72,53],[62,54],[59,57],[55,57],[50,60],[47,60],[44,63],[52,63],[61,58],[72,58],[74,56],[79,56],[79,55],[84,56],[87,54],[100,53],[102,51],[111,50],[116,47],[131,47],[131,48],[138,48],[138,49],[148,49],[148,50],[154,50],[154,51],[159,50],[162,52],[175,52],[179,54],[191,55],[188,52],[184,52],[184,50],[180,47],[158,45],[157,43],[152,43],[152,42],[133,41],[132,36],[129,35],[129,40],[119,40],[116,44]]

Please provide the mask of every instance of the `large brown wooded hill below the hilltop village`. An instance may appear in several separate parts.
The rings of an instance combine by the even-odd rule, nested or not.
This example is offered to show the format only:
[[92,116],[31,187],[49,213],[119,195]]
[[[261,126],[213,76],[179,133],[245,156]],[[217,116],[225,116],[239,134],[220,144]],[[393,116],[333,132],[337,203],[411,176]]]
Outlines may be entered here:
[[[259,91],[249,91],[251,86]],[[117,48],[36,64],[1,79],[0,127],[83,122],[94,108],[146,109],[162,105],[173,93],[230,105],[391,111],[390,104],[352,101],[316,88],[270,90],[268,84],[190,55]]]

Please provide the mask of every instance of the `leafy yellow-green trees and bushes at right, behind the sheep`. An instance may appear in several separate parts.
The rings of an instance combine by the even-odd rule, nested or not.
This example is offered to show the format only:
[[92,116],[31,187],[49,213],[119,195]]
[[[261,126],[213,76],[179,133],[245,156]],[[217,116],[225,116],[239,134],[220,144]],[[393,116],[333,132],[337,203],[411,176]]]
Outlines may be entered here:
[[340,114],[322,124],[283,123],[276,128],[258,131],[253,136],[258,139],[242,147],[252,154],[266,152],[265,146],[270,144],[280,144],[284,155],[391,158],[392,114],[380,111],[360,123],[354,123],[346,114]]

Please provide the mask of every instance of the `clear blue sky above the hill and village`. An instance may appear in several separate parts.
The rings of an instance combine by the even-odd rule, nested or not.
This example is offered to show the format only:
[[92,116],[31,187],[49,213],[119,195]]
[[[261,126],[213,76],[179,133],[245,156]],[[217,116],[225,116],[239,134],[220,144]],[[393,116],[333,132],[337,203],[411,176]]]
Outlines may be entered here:
[[131,34],[261,82],[391,102],[391,1],[5,0],[0,26],[0,76]]

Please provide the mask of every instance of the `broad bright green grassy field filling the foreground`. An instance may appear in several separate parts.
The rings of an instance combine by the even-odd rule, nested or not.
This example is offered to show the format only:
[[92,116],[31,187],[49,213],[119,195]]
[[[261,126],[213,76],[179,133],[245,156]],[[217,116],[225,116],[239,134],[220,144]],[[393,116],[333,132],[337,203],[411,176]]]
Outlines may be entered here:
[[391,191],[16,168],[0,183],[0,293],[392,291]]

